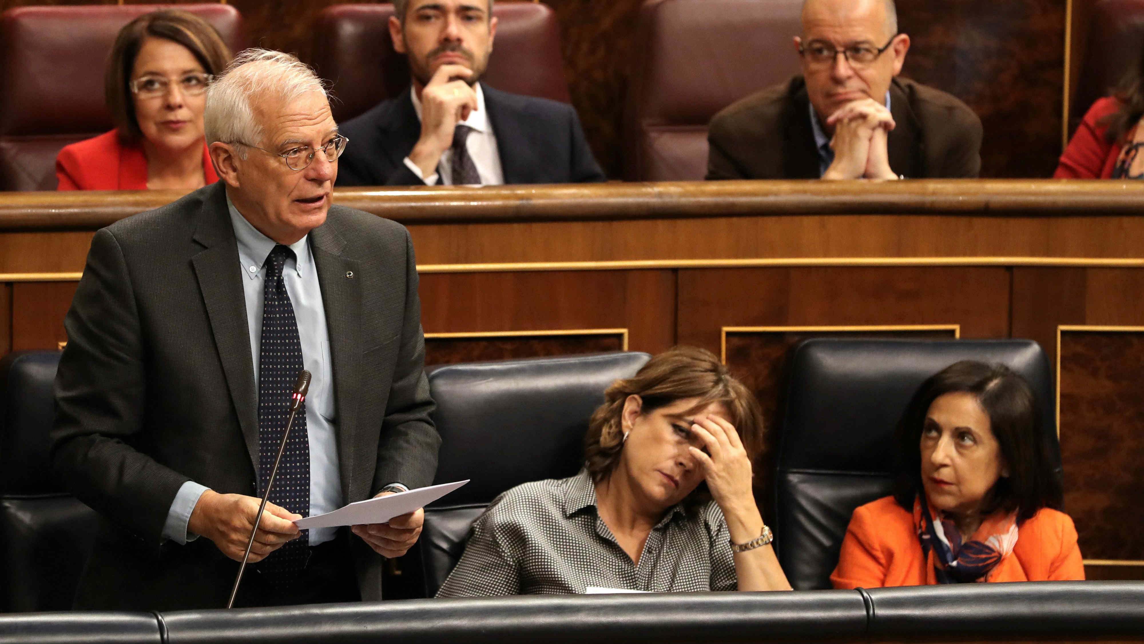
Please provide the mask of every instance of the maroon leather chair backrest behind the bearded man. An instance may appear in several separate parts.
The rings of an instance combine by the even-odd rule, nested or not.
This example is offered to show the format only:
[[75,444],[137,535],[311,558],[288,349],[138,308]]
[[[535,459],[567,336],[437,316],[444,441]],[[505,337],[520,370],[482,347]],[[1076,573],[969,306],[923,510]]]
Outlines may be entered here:
[[[405,56],[394,50],[394,6],[333,5],[313,32],[313,67],[331,82],[334,119],[351,119],[407,90]],[[540,2],[498,2],[496,39],[484,79],[496,89],[569,102],[556,13]]]

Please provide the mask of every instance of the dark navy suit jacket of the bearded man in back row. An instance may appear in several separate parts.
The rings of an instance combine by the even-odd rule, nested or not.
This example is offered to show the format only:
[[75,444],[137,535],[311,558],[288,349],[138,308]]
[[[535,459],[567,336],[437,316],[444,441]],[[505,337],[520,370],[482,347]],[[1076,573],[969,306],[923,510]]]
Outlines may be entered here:
[[[496,137],[505,183],[604,181],[572,105],[509,94],[480,84]],[[337,185],[424,185],[405,165],[421,137],[406,88],[397,97],[341,125],[350,140],[337,165]]]

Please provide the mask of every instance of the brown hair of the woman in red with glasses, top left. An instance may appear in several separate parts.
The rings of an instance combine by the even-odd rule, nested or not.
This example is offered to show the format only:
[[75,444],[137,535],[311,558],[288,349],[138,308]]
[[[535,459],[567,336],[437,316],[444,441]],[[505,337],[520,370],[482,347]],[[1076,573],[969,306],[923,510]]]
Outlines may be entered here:
[[208,74],[219,75],[230,63],[230,49],[222,37],[202,18],[178,9],[164,9],[144,14],[124,25],[116,37],[116,43],[108,55],[108,69],[103,75],[103,95],[108,102],[111,118],[119,128],[119,136],[125,143],[138,141],[138,121],[135,119],[135,101],[128,84],[135,57],[138,56],[143,41],[162,38],[177,42],[194,56]]

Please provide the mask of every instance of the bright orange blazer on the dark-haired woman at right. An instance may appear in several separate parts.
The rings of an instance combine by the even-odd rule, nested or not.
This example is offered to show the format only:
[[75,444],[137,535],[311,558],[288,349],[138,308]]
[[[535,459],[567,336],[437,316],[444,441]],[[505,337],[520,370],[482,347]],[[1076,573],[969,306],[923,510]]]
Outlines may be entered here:
[[[1001,559],[987,581],[1082,579],[1085,565],[1072,518],[1044,508],[1020,524],[1012,552]],[[913,512],[893,496],[855,510],[831,582],[835,588],[936,585],[934,552],[922,557]]]

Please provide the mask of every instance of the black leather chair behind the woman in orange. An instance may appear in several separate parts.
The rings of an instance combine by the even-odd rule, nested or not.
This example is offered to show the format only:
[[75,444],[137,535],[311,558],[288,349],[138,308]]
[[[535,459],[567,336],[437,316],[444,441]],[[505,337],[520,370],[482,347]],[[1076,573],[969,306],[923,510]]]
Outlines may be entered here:
[[891,491],[898,419],[923,380],[963,359],[1004,363],[1036,393],[1059,466],[1052,385],[1032,340],[808,340],[791,358],[776,482],[779,562],[795,589],[829,588],[855,508]]

